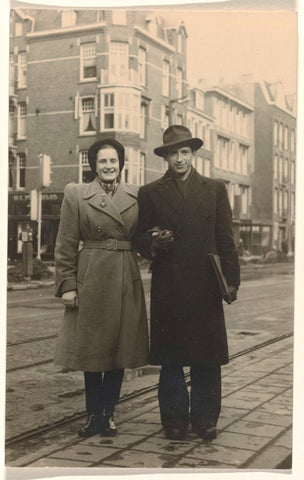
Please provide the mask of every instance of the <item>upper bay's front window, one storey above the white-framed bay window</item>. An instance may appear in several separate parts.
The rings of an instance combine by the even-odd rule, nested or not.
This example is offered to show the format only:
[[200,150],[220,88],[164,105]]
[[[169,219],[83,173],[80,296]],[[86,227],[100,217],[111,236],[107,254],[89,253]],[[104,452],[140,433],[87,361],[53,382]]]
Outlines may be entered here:
[[129,44],[110,43],[109,58],[110,83],[126,82],[129,78]]

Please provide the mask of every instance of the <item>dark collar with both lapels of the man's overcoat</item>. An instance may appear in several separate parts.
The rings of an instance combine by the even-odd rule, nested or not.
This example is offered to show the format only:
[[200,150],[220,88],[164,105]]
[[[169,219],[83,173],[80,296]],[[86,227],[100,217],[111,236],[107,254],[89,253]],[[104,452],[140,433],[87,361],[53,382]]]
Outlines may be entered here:
[[193,208],[198,208],[209,190],[209,183],[206,178],[200,175],[195,169],[191,182],[192,184],[186,202],[174,185],[174,180],[168,170],[157,182],[156,189],[165,199],[166,203],[180,214],[181,211],[185,209],[186,204],[190,204]]

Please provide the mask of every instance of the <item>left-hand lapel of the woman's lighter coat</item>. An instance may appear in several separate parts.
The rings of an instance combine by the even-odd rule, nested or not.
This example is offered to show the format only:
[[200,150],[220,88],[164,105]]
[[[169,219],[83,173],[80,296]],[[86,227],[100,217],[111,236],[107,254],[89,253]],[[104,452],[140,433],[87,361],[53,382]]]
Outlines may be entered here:
[[[118,186],[116,193],[118,192],[119,188],[120,185]],[[94,180],[92,183],[88,184],[83,198],[88,200],[88,203],[91,205],[91,207],[106,213],[110,217],[114,218],[114,220],[124,225],[119,209],[115,205],[112,198],[106,194],[97,180]]]

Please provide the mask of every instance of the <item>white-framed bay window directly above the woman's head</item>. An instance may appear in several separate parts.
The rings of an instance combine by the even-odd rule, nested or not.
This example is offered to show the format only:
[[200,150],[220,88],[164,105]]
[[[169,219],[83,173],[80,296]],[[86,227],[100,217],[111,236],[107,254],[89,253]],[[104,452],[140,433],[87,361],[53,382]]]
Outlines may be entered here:
[[117,88],[103,93],[100,129],[140,133],[140,113],[140,96],[132,89]]

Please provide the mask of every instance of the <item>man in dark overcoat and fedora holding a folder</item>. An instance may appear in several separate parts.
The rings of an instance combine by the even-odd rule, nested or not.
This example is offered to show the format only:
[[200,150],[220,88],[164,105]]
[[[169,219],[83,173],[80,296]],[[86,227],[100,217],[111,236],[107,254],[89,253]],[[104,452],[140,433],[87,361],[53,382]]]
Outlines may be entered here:
[[[220,368],[228,363],[228,347],[208,253],[219,254],[232,301],[240,283],[225,185],[192,167],[202,145],[188,128],[170,126],[154,150],[167,160],[168,170],[141,187],[138,196],[134,247],[152,260],[151,363],[161,365],[160,414],[171,439],[185,437],[189,420],[201,438],[216,437]],[[190,366],[190,402],[183,366]]]

